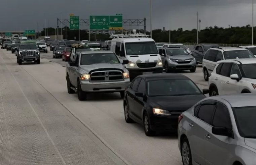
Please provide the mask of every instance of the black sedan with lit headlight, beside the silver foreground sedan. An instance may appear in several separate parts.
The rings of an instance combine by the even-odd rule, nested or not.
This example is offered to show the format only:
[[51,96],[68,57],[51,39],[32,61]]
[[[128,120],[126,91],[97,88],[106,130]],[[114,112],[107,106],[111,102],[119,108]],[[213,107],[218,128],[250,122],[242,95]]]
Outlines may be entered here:
[[204,99],[204,94],[181,74],[144,74],[137,76],[124,94],[124,117],[144,125],[145,134],[157,130],[177,131],[179,115]]

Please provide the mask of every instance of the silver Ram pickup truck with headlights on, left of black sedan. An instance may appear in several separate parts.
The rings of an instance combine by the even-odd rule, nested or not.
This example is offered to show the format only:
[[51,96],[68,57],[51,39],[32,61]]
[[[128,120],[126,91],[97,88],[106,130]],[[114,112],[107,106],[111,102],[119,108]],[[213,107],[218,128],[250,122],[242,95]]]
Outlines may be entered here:
[[79,100],[95,92],[120,92],[123,98],[130,84],[129,71],[123,66],[127,63],[121,63],[111,51],[77,52],[66,65],[68,93],[77,92]]

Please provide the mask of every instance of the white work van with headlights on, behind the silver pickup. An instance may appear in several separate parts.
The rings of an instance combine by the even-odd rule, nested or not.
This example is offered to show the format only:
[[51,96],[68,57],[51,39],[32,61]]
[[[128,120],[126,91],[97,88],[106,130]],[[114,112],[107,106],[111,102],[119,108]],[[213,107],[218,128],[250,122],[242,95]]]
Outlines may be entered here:
[[129,60],[125,67],[130,72],[130,79],[143,73],[162,73],[162,60],[156,48],[155,41],[147,37],[114,38],[111,41],[111,51],[118,58]]

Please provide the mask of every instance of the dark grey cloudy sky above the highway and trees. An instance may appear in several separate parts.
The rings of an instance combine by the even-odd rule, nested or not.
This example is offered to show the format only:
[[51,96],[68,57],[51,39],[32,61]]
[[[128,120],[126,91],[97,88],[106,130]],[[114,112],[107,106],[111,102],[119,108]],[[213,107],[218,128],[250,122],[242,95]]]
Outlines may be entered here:
[[[150,0],[0,0],[0,31],[42,30],[46,25],[56,27],[57,17],[68,19],[69,13],[80,18],[88,15],[115,15],[123,19],[146,17],[150,30]],[[255,5],[256,7],[256,1]],[[152,0],[152,29],[182,27],[196,28],[196,12],[201,27],[244,26],[252,23],[252,0]],[[256,8],[255,8],[256,14]],[[49,25],[48,25],[49,24]],[[256,24],[256,15],[255,15]],[[135,29],[135,27],[124,27]],[[142,29],[142,28],[141,28]]]

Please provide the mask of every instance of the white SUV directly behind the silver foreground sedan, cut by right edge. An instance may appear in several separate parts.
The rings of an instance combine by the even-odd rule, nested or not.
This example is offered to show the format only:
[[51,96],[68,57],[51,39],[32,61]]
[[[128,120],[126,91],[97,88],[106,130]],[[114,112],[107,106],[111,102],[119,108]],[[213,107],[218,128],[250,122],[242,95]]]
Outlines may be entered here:
[[256,58],[218,61],[209,77],[210,96],[256,93]]

